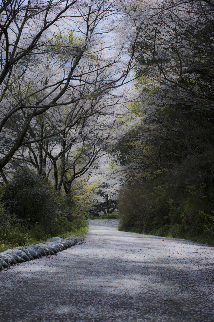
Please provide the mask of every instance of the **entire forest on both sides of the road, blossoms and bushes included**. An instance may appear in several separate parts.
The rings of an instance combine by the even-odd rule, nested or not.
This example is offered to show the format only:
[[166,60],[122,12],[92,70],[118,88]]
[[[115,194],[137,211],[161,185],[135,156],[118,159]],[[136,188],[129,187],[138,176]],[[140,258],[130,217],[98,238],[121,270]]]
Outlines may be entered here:
[[0,243],[116,210],[121,230],[213,243],[213,1],[0,11]]

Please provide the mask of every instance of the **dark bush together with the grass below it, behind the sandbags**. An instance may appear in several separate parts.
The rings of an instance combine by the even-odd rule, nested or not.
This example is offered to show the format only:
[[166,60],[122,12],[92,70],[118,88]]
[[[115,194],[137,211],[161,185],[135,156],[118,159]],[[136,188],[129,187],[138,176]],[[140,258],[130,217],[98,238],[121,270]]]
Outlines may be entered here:
[[1,244],[23,246],[54,236],[84,234],[88,229],[85,220],[73,219],[67,201],[54,192],[48,181],[29,169],[17,171],[1,190]]

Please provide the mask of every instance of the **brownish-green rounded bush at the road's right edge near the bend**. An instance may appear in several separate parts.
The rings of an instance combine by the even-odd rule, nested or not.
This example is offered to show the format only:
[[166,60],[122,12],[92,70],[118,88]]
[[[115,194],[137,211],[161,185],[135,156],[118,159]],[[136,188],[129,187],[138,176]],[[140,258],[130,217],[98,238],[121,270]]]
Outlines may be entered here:
[[120,213],[120,230],[145,232],[168,224],[166,194],[145,183],[130,184],[120,189],[117,208]]

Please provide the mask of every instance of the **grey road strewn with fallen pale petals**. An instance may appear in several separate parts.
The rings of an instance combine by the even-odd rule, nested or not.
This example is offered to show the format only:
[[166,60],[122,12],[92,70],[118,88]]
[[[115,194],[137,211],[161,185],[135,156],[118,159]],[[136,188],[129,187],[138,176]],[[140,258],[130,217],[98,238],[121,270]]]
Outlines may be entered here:
[[214,322],[214,247],[89,222],[85,244],[0,273],[0,320]]

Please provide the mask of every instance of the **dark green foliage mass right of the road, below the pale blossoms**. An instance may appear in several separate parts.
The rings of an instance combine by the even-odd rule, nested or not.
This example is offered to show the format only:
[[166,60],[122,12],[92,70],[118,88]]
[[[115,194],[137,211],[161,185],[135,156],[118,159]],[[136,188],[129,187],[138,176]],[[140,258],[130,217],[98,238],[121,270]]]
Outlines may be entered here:
[[145,117],[135,128],[132,150],[130,142],[121,142],[119,153],[129,162],[118,198],[120,229],[211,242],[214,114],[175,112],[157,110]]

